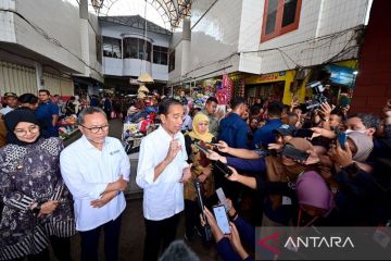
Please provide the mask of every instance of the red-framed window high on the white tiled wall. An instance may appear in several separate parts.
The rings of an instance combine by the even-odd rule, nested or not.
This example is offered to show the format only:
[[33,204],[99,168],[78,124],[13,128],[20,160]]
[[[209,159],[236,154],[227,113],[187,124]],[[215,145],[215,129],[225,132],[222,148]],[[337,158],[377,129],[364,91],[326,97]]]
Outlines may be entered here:
[[302,0],[265,0],[261,41],[299,27]]

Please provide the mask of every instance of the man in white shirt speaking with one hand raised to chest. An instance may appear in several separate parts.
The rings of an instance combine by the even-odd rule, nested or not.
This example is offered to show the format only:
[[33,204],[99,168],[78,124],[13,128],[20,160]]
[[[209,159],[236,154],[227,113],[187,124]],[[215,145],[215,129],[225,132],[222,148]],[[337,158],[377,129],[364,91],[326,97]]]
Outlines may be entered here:
[[162,125],[144,137],[136,183],[143,188],[146,240],[143,260],[157,259],[175,239],[179,213],[184,210],[184,182],[191,177],[180,133],[184,108],[175,99],[165,99],[159,105]]

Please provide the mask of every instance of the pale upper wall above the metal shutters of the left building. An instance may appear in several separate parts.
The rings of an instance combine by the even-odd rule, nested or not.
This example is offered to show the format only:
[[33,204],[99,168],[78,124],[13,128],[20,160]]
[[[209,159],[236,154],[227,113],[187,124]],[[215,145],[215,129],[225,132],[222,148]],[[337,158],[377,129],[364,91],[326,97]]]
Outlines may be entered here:
[[[16,13],[0,12],[0,44],[17,44],[27,49],[18,51],[21,60],[30,58],[56,66],[61,72],[100,78],[101,65],[96,57],[99,26],[93,14],[90,14],[89,22],[83,21],[79,7],[68,0],[0,0],[0,8]],[[86,37],[83,38],[81,34]]]

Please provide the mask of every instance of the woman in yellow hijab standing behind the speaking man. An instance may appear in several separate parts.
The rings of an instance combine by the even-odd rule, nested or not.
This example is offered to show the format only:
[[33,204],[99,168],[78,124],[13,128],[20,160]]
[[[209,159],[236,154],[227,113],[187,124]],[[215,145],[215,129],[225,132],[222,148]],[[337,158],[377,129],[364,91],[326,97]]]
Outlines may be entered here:
[[209,117],[203,113],[195,114],[192,121],[192,130],[185,135],[186,150],[189,156],[189,163],[192,163],[192,178],[185,183],[185,215],[186,237],[190,239],[194,234],[194,227],[199,224],[199,210],[197,204],[197,192],[193,185],[198,178],[203,185],[204,197],[207,200],[214,194],[214,178],[212,164],[205,153],[199,150],[195,144],[212,149],[210,144],[215,142],[214,136],[209,132]]

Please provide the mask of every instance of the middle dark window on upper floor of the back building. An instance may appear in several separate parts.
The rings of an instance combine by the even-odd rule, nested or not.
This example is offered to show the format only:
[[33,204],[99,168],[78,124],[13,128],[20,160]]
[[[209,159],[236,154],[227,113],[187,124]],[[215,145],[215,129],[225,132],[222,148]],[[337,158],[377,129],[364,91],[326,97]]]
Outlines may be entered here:
[[[139,38],[125,38],[124,39],[124,49],[125,58],[140,59],[151,61],[151,42],[146,41]],[[146,52],[144,52],[146,48]]]

